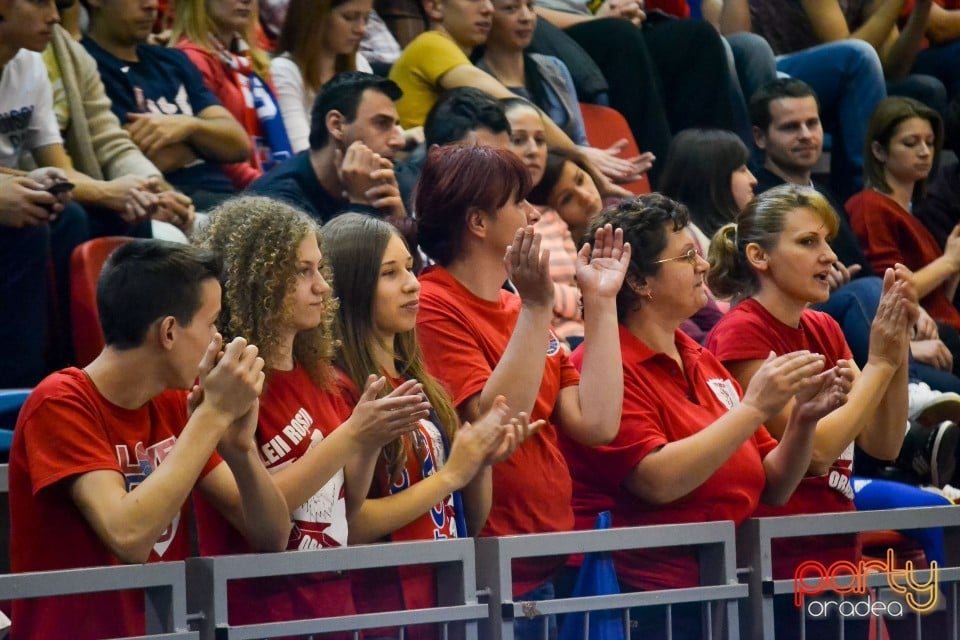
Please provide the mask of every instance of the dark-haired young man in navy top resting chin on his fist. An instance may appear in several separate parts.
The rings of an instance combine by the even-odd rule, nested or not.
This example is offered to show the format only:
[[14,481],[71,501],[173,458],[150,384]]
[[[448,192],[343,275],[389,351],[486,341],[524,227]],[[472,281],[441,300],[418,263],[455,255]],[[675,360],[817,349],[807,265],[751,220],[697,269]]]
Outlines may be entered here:
[[320,90],[310,116],[310,148],[247,189],[294,204],[322,224],[347,210],[406,218],[393,171],[403,148],[393,81],[360,71],[340,73]]

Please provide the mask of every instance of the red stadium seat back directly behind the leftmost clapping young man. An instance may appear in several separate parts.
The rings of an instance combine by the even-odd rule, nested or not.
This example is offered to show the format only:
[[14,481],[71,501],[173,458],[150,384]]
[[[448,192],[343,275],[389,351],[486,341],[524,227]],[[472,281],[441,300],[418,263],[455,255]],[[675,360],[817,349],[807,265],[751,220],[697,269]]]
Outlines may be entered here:
[[85,367],[103,349],[97,315],[97,278],[107,257],[131,238],[96,238],[77,246],[70,256],[70,321],[76,365]]

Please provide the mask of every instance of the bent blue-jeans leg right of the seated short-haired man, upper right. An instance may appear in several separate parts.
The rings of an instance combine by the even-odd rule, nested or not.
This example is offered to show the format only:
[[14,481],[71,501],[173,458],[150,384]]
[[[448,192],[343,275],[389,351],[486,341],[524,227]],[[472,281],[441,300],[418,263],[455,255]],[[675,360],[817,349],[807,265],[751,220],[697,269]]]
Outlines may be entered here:
[[820,116],[833,138],[831,186],[840,202],[863,186],[867,122],[887,97],[880,58],[862,40],[829,42],[779,56],[777,71],[809,84],[820,101]]

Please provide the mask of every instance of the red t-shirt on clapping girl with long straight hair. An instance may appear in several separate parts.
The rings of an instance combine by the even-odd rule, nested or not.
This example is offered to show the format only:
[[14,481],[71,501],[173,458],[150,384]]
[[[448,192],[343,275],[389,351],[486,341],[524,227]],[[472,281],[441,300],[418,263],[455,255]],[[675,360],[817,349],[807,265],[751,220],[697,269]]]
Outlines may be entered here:
[[[394,386],[398,386],[403,381],[392,382]],[[357,398],[356,388],[353,387],[345,399],[347,402],[356,402]],[[435,417],[436,413],[431,415]],[[447,461],[447,447],[444,445],[440,428],[432,420],[421,420],[420,427],[404,437],[407,460],[396,482],[391,481],[387,459],[381,454],[377,460],[369,497],[383,498],[398,494],[442,469]],[[466,532],[457,530],[453,496],[448,495],[430,511],[386,536],[382,542],[449,540],[465,535]],[[360,613],[435,607],[436,593],[436,575],[428,566],[386,567],[353,574],[354,600]],[[383,633],[380,633],[381,631]],[[374,629],[367,633],[376,637],[393,635],[383,629]],[[411,626],[406,627],[405,634],[410,640],[432,640],[437,637],[437,629],[431,625]]]

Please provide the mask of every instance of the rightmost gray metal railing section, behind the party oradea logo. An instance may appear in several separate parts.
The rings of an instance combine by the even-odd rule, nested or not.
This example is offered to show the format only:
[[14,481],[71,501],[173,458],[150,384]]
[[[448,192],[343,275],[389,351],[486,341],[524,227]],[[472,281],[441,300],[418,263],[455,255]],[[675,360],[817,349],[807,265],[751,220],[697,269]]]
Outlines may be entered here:
[[[937,581],[940,585],[939,595],[944,598],[944,606],[938,608],[945,618],[945,624],[938,628],[936,632],[928,634],[931,638],[941,640],[942,638],[952,638],[958,640],[958,587],[960,587],[960,558],[957,554],[958,536],[960,536],[960,508],[956,506],[943,507],[923,507],[914,509],[891,509],[885,511],[860,511],[851,513],[831,513],[802,516],[786,516],[779,518],[752,518],[741,525],[738,531],[737,547],[741,551],[741,560],[749,564],[747,571],[747,581],[750,585],[750,598],[748,605],[744,607],[744,638],[754,640],[774,640],[774,596],[793,595],[798,589],[805,594],[812,594],[818,589],[825,588],[831,584],[839,586],[841,589],[854,588],[854,580],[862,580],[870,588],[888,587],[889,573],[883,571],[863,571],[854,577],[844,579],[836,577],[833,582],[829,582],[829,572],[822,572],[821,575],[807,575],[799,583],[795,583],[793,578],[774,580],[773,579],[773,561],[771,552],[771,541],[777,538],[798,538],[811,535],[831,535],[843,533],[859,533],[863,531],[882,531],[886,529],[923,529],[923,528],[943,528],[947,546],[947,564],[948,567],[938,567]],[[870,567],[866,567],[869,569]],[[874,566],[873,569],[877,569]],[[928,583],[931,579],[930,570],[914,569],[915,579],[920,584]],[[894,580],[900,580],[902,573],[894,574]],[[828,594],[829,597],[829,594]],[[843,598],[834,600],[837,604],[835,609],[839,609],[839,603]],[[853,601],[850,602],[847,609],[852,615],[871,621],[871,624],[880,627],[883,612],[886,606],[881,609],[867,612],[856,610]],[[804,626],[806,615],[806,600],[802,601],[802,606],[797,611],[797,620],[801,628]],[[821,603],[818,605],[824,609],[824,615],[829,605]],[[862,609],[862,608],[861,608]],[[910,611],[907,607],[903,613],[912,617],[912,627],[910,635],[922,638],[923,618],[920,614]],[[818,610],[819,611],[819,610]],[[815,614],[817,612],[814,612]],[[834,612],[837,613],[837,612]],[[842,611],[840,612],[842,613]],[[838,627],[842,624],[843,615],[836,615]],[[887,619],[887,624],[895,620]],[[802,637],[802,636],[801,636]],[[879,635],[877,637],[880,637]]]

